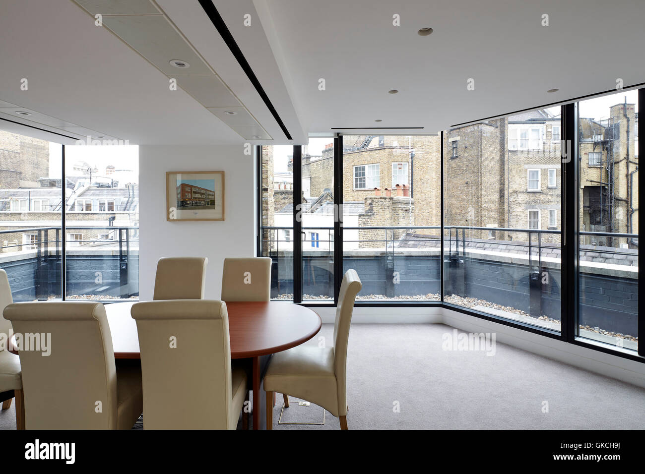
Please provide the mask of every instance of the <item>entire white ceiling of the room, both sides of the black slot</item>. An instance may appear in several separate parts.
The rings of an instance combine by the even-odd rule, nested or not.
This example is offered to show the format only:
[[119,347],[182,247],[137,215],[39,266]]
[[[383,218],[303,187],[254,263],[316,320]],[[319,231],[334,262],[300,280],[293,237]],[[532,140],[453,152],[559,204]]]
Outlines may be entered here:
[[[54,124],[41,128],[66,124],[71,136],[83,136],[82,127],[132,144],[244,143],[224,123],[223,109],[214,108],[235,105],[273,138],[266,143],[303,143],[307,133],[334,127],[424,127],[381,133],[437,133],[452,124],[610,90],[617,78],[625,86],[645,82],[641,0],[213,3],[293,142],[197,0],[157,5],[230,88],[219,92],[216,83],[219,88],[213,86],[205,99],[184,92],[181,80],[170,91],[161,70],[108,28],[95,26],[71,0],[0,0],[0,114],[2,101],[9,103],[1,116],[28,123],[28,117],[12,115],[15,104]],[[251,15],[251,26],[244,26],[244,14]],[[394,14],[401,26],[392,25]],[[549,15],[549,26],[541,26],[542,14]],[[433,34],[417,35],[424,26],[434,28]],[[27,91],[20,89],[22,78],[29,81]],[[318,88],[321,78],[324,91]],[[466,90],[469,78],[475,80],[473,91]],[[551,88],[560,90],[548,94]],[[388,94],[390,89],[400,92]],[[230,94],[241,104],[228,104]],[[204,101],[213,104],[211,110]],[[245,113],[233,117],[229,124],[240,130],[255,126]],[[352,133],[363,131],[370,130]]]

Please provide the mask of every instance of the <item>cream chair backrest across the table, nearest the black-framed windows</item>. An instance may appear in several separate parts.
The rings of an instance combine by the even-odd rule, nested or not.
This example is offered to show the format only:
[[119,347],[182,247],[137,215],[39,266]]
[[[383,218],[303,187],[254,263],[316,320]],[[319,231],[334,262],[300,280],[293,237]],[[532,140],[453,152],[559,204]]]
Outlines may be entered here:
[[269,301],[271,262],[269,257],[224,259],[223,301]]

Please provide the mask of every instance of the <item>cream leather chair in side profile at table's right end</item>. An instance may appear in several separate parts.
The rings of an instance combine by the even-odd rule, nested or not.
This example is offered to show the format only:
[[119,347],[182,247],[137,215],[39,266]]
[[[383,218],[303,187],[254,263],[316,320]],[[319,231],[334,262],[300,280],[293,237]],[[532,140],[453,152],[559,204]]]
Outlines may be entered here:
[[[333,347],[297,346],[273,354],[264,375],[266,428],[273,427],[273,392],[279,391],[322,406],[341,419],[347,430],[346,362],[347,342],[356,295],[362,284],[355,270],[342,278],[341,292],[333,326]],[[285,402],[285,406],[289,406]]]

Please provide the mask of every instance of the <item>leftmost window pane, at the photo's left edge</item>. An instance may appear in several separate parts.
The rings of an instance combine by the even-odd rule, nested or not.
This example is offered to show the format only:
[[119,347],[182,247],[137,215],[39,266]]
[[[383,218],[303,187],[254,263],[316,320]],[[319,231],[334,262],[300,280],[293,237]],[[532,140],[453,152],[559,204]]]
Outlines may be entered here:
[[62,148],[0,130],[0,268],[14,301],[61,298]]

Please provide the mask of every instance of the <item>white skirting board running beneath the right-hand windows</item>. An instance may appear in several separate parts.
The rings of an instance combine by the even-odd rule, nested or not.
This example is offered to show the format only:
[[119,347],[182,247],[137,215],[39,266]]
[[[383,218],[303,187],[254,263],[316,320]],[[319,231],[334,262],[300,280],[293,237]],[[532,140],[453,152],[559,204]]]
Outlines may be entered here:
[[[335,308],[312,310],[320,315],[324,324],[333,324]],[[446,308],[354,308],[352,323],[439,323],[467,332],[494,332],[496,340],[504,344],[645,388],[645,364],[642,362],[568,344]]]

